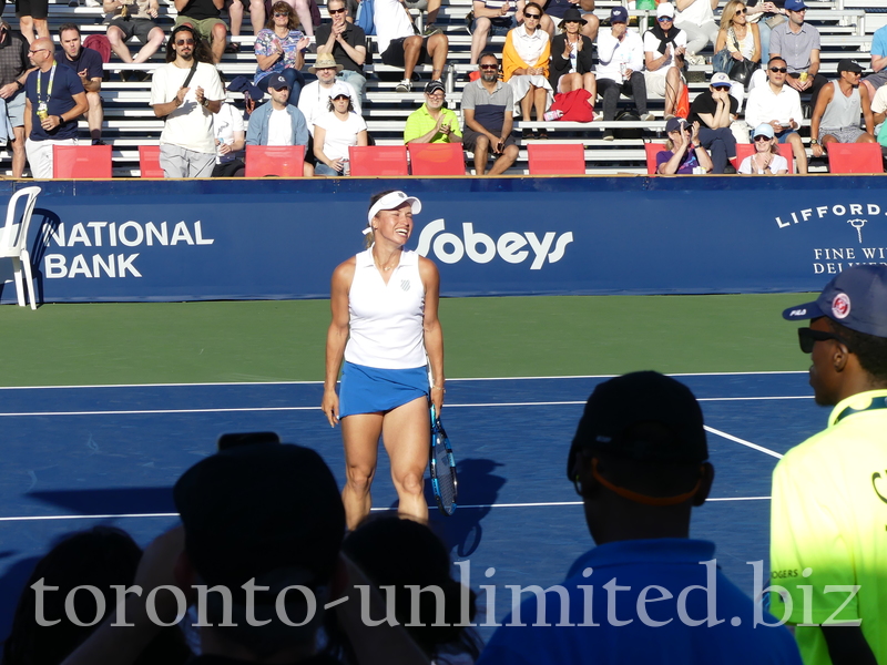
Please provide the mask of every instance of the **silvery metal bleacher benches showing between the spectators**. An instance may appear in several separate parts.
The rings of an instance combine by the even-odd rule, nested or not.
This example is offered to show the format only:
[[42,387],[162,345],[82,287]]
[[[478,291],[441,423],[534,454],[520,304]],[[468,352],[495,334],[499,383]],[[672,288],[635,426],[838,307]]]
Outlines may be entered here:
[[[81,0],[82,1],[82,0]],[[323,2],[323,0],[322,0]],[[610,9],[621,4],[616,0],[601,0],[597,4],[595,13],[605,19]],[[724,2],[722,2],[722,6]],[[842,58],[856,59],[864,69],[869,65],[869,49],[871,35],[880,25],[887,23],[887,0],[830,0],[824,2],[808,2],[810,10],[806,14],[806,20],[815,24],[822,34],[823,49],[820,52],[822,73],[826,76],[834,76],[835,68]],[[458,112],[461,89],[466,82],[466,73],[473,69],[469,65],[470,35],[466,29],[465,16],[471,8],[471,0],[445,0],[443,7],[437,20],[437,25],[443,29],[449,38],[450,53],[447,71],[447,103],[450,109]],[[324,19],[327,20],[325,4],[320,7]],[[11,6],[7,11],[7,20],[13,29],[17,28],[17,20],[11,16]],[[649,12],[631,11],[632,17],[636,18],[641,24]],[[720,13],[720,12],[718,12]],[[717,18],[717,17],[716,17]],[[175,8],[172,3],[161,4],[160,24],[169,32],[175,19]],[[421,20],[421,17],[418,17]],[[634,19],[633,19],[634,20]],[[67,1],[59,0],[50,2],[49,24],[53,38],[58,41],[58,28],[65,22],[75,22],[81,27],[84,38],[90,34],[104,34],[104,14],[101,7],[70,7]],[[249,22],[244,20],[244,28],[248,30]],[[603,28],[602,28],[603,29]],[[225,79],[231,81],[236,75],[252,75],[255,72],[256,61],[252,51],[253,35],[245,34],[234,38],[242,44],[237,53],[225,53],[220,70]],[[373,38],[370,38],[371,40]],[[492,38],[488,48],[493,51],[501,51],[503,38]],[[375,51],[375,44],[373,44]],[[114,176],[135,177],[139,171],[139,145],[156,144],[163,127],[163,121],[154,116],[153,110],[149,105],[151,81],[124,82],[120,79],[120,72],[124,69],[153,69],[163,63],[164,49],[157,51],[149,63],[142,65],[126,65],[116,57],[105,65],[109,80],[102,85],[102,99],[104,102],[104,129],[103,140],[112,145],[113,173]],[[708,57],[711,62],[711,47],[703,55]],[[314,61],[314,54],[306,55],[305,68]],[[367,101],[364,105],[364,117],[374,140],[379,145],[390,145],[402,143],[404,123],[407,116],[422,103],[422,85],[416,85],[411,93],[397,93],[395,85],[399,76],[398,70],[378,63],[367,66],[371,72],[367,82]],[[417,73],[422,82],[429,78],[428,66],[417,68]],[[705,81],[712,73],[711,64],[696,65],[690,68],[690,94],[691,99],[707,86]],[[231,93],[235,102],[242,106],[242,95]],[[622,100],[628,103],[628,100]],[[614,173],[646,173],[644,162],[644,142],[651,140],[662,140],[664,119],[663,100],[652,99],[650,111],[656,115],[656,120],[648,123],[605,123],[595,121],[593,123],[567,123],[553,121],[550,123],[538,122],[517,122],[518,130],[523,127],[546,126],[550,136],[549,142],[559,143],[581,143],[585,147],[587,173],[589,174],[614,174]],[[642,139],[620,139],[615,141],[603,141],[605,129],[632,127],[643,129]],[[88,136],[85,120],[80,121],[81,136]],[[808,142],[809,121],[804,122],[802,135]],[[11,175],[11,152],[0,151],[0,170],[6,175]],[[470,164],[470,160],[468,160]],[[812,161],[810,172],[825,171],[825,161]],[[528,174],[528,157],[526,145],[520,151],[520,156],[514,163],[509,174]]]

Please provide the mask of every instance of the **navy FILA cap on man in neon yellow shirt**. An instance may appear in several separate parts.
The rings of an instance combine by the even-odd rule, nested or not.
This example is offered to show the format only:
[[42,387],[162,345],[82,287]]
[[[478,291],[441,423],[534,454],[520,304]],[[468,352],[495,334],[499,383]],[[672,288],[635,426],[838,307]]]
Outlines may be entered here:
[[842,326],[887,337],[887,266],[853,266],[826,284],[813,303],[789,307],[789,321],[827,316]]

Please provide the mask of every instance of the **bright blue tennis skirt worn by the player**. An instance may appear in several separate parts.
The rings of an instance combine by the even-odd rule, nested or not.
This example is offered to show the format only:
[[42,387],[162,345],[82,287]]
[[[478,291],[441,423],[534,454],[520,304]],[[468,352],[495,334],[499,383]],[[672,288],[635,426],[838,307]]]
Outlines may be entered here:
[[428,369],[380,369],[345,362],[339,387],[339,418],[390,411],[428,397]]

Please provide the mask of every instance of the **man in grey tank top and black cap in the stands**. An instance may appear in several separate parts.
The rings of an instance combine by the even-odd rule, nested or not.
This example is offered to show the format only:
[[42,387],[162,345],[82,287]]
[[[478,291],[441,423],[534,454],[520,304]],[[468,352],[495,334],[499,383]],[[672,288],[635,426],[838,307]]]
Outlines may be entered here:
[[[853,60],[838,62],[838,79],[823,85],[810,119],[813,155],[819,157],[829,143],[875,143],[875,120],[868,88],[859,85],[863,68]],[[859,129],[859,113],[866,131]]]

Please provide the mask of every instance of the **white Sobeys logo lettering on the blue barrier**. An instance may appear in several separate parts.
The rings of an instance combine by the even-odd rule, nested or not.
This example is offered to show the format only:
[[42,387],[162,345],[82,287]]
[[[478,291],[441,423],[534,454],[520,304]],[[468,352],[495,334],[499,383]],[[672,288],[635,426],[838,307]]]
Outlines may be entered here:
[[[549,231],[540,238],[533,232],[516,233],[506,232],[493,239],[486,233],[475,232],[471,222],[462,224],[461,237],[455,233],[446,232],[446,222],[435,219],[422,228],[419,234],[417,252],[428,256],[434,252],[435,257],[446,264],[460,262],[466,255],[475,263],[490,263],[496,256],[510,264],[524,263],[532,253],[531,270],[539,270],[548,263],[558,263],[563,258],[567,245],[573,242],[573,233],[568,231],[560,236]],[[553,246],[553,249],[552,249]]]

